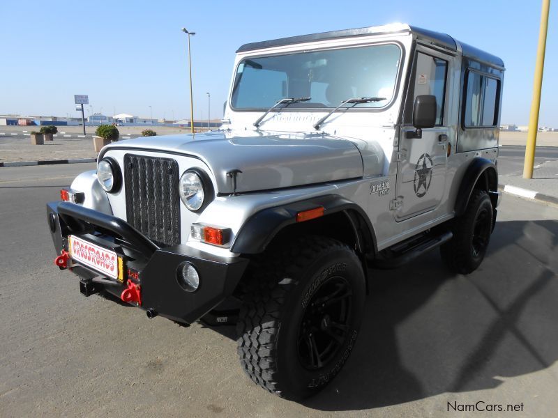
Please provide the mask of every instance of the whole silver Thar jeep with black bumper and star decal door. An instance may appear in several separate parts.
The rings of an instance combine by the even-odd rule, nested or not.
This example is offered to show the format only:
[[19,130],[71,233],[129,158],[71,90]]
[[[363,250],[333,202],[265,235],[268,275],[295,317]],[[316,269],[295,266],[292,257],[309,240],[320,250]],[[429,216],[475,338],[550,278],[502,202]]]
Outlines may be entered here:
[[354,347],[370,268],[483,261],[503,76],[406,24],[243,45],[222,129],[106,146],[47,205],[55,263],[149,318],[236,323],[252,380],[310,396]]

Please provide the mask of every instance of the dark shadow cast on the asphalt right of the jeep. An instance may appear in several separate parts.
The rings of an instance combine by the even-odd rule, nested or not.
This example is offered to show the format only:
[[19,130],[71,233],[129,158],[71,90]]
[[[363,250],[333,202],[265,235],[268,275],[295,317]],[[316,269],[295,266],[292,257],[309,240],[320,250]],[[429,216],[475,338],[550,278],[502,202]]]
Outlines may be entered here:
[[371,270],[361,334],[339,376],[304,405],[360,410],[497,387],[558,359],[558,222],[498,222],[467,276],[432,251]]

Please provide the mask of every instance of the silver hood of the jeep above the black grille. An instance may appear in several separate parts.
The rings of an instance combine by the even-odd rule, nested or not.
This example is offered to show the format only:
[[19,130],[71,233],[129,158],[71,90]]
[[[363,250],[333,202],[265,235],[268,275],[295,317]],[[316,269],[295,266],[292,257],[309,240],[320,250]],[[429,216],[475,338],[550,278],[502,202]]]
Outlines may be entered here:
[[325,134],[208,132],[119,141],[111,148],[152,150],[196,157],[211,170],[217,192],[233,192],[227,172],[240,170],[236,192],[324,183],[363,175],[363,161],[352,141]]

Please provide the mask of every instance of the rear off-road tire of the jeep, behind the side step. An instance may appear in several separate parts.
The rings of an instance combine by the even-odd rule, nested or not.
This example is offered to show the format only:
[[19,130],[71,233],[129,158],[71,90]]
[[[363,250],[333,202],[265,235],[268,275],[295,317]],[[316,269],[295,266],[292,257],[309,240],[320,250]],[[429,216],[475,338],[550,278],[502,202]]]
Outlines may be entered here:
[[[481,231],[478,230],[479,217],[483,217]],[[450,270],[469,274],[481,265],[490,242],[493,217],[488,193],[474,189],[465,213],[453,222],[453,238],[440,247],[442,259]],[[482,245],[478,244],[479,237],[483,240]]]

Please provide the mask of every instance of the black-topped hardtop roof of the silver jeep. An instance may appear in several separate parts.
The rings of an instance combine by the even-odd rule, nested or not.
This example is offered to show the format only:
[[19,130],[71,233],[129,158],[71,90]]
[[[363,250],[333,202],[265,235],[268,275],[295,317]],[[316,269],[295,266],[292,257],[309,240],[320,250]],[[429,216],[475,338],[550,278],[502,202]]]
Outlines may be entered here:
[[[382,29],[384,29],[382,31]],[[299,35],[290,36],[289,38],[279,38],[273,40],[264,40],[262,42],[251,42],[242,45],[236,52],[248,52],[255,49],[264,49],[270,47],[280,47],[283,45],[294,45],[303,42],[312,42],[316,40],[326,40],[334,38],[349,38],[352,36],[365,36],[372,34],[381,33],[398,33],[402,31],[411,31],[416,35],[419,40],[425,40],[433,45],[449,49],[450,51],[456,52],[458,47],[455,39],[446,33],[429,31],[428,29],[422,29],[417,26],[410,25],[398,25],[393,26],[369,26],[365,28],[358,29],[343,29],[342,31],[331,31],[331,32],[321,32],[321,33],[311,33],[309,35]],[[467,45],[466,43],[458,41],[461,45],[461,51],[464,56],[471,59],[478,59],[488,64],[496,65],[497,67],[504,68],[504,61],[495,55],[484,52],[481,49]]]

